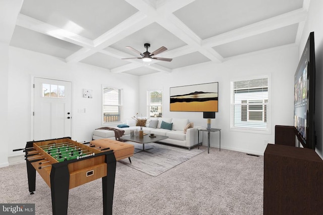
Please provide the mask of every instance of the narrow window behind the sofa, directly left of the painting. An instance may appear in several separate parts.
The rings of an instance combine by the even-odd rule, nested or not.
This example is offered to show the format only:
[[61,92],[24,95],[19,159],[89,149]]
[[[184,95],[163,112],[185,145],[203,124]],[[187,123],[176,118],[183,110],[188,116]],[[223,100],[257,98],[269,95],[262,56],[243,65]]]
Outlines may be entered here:
[[148,91],[147,106],[149,117],[161,117],[163,115],[163,91]]

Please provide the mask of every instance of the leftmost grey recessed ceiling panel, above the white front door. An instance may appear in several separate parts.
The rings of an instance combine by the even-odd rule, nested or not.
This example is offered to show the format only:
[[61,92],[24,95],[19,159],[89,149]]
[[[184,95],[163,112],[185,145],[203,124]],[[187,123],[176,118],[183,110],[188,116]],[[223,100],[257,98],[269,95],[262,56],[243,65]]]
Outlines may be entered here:
[[26,28],[16,26],[10,42],[11,46],[66,58],[81,47]]

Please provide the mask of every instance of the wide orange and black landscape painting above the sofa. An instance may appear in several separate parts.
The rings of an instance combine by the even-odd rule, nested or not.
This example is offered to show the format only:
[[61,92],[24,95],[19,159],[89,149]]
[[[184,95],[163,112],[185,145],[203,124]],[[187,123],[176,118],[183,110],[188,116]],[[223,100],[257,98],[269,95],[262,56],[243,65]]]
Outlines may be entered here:
[[218,82],[170,88],[170,111],[218,112]]

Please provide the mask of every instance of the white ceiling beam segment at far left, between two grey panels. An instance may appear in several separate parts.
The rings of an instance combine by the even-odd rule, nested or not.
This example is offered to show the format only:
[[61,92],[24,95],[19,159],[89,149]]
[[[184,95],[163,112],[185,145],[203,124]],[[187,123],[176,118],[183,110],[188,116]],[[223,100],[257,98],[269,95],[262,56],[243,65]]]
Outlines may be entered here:
[[16,25],[36,31],[38,33],[42,33],[51,37],[58,38],[60,40],[64,40],[66,42],[73,43],[82,47],[87,47],[87,48],[93,47],[93,41],[90,39],[87,39],[78,34],[72,33],[65,29],[49,25],[40,20],[36,20],[34,18],[28,17],[23,14],[18,15]]

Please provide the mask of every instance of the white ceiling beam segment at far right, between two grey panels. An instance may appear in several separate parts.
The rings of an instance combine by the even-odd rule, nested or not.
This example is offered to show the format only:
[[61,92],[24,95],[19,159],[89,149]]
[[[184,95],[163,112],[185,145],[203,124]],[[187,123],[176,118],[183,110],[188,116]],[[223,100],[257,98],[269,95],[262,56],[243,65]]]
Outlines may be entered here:
[[307,12],[305,10],[298,9],[286,14],[282,14],[280,16],[276,16],[214,37],[207,38],[203,40],[202,46],[214,47],[246,37],[261,34],[267,31],[272,31],[278,28],[293,25],[304,21],[306,19],[306,16]]

